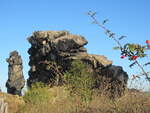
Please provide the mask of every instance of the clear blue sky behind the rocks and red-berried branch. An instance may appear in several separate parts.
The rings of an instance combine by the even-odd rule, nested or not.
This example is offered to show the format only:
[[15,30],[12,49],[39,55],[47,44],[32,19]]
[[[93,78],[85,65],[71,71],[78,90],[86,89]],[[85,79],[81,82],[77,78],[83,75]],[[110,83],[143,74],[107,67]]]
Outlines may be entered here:
[[[86,12],[98,12],[102,21],[109,18],[106,27],[128,37],[122,43],[140,43],[150,39],[149,0],[0,0],[0,86],[6,91],[8,77],[6,58],[9,52],[17,50],[23,58],[24,75],[28,78],[27,37],[37,30],[68,30],[88,40],[86,48],[90,54],[105,55],[115,65],[123,66],[129,75],[127,60],[120,59],[118,51],[112,50],[114,42],[107,38]],[[149,53],[148,53],[149,54]],[[145,58],[144,61],[149,60]]]

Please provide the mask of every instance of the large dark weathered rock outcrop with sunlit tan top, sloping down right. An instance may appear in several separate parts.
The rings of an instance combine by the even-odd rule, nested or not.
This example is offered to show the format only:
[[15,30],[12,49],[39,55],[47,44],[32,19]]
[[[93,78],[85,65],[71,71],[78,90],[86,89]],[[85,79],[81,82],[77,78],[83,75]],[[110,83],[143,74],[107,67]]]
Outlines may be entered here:
[[[28,38],[31,48],[28,85],[35,82],[62,84],[65,72],[74,60],[82,60],[91,65],[95,77],[105,76],[112,81],[127,84],[128,75],[121,67],[102,55],[90,55],[84,48],[88,42],[82,36],[66,31],[38,31]],[[55,81],[55,83],[53,82]]]

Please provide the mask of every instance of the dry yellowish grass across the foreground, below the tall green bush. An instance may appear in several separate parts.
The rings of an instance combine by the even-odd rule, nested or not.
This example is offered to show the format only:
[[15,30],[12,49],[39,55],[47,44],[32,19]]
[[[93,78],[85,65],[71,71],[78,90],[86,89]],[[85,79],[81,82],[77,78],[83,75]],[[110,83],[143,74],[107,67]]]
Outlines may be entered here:
[[[110,100],[95,93],[92,100],[85,103],[79,96],[70,95],[64,87],[38,90],[38,93],[25,94],[26,103],[20,105],[17,113],[150,113],[150,94],[127,91],[124,96]],[[36,100],[38,96],[43,99]]]

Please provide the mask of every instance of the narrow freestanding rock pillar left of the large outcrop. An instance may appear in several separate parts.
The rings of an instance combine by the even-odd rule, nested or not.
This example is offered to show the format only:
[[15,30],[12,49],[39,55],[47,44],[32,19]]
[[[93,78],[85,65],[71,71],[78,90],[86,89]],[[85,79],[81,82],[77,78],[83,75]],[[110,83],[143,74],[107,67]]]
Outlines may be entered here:
[[6,61],[9,63],[8,80],[6,82],[7,92],[21,96],[21,90],[25,85],[21,56],[17,51],[13,51]]

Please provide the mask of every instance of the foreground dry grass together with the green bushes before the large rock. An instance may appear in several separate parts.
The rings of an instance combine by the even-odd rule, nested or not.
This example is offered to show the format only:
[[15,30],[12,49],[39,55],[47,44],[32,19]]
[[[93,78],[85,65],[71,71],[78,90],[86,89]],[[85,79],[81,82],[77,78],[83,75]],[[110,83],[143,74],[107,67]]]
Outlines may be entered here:
[[65,86],[34,84],[23,96],[25,103],[12,113],[150,113],[150,93],[126,90],[110,99],[105,90],[92,90],[92,74],[89,66],[73,62],[65,73]]

